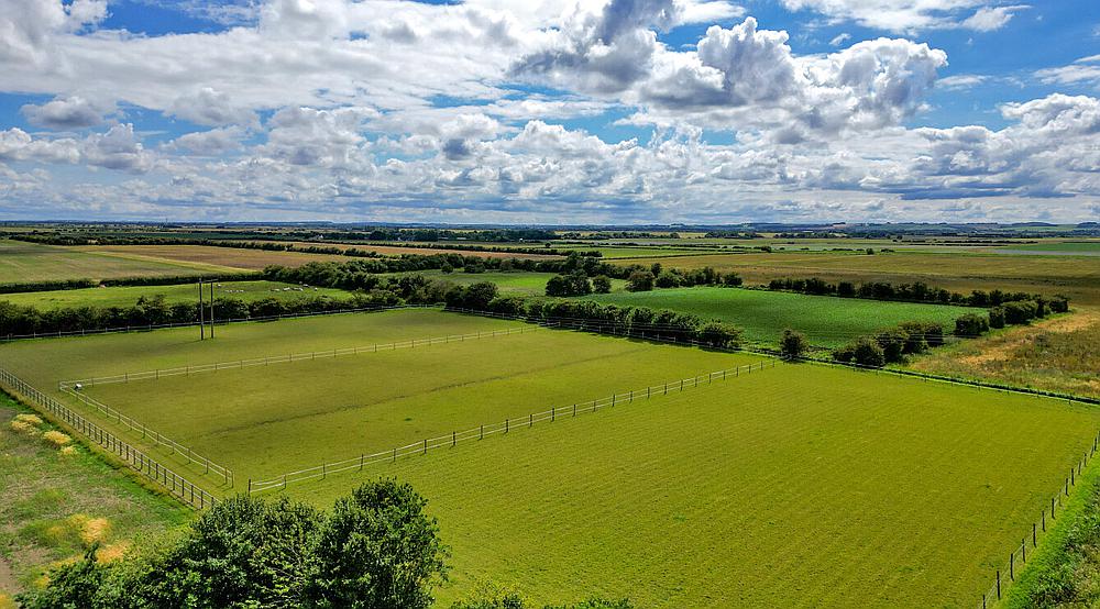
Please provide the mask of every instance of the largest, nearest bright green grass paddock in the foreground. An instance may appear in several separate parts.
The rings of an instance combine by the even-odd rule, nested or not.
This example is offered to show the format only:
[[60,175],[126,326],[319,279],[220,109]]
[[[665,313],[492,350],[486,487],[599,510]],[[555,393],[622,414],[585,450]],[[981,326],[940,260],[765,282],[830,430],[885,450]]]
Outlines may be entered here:
[[287,492],[411,483],[452,547],[442,606],[494,580],[638,607],[971,607],[1100,424],[811,365],[586,417]]

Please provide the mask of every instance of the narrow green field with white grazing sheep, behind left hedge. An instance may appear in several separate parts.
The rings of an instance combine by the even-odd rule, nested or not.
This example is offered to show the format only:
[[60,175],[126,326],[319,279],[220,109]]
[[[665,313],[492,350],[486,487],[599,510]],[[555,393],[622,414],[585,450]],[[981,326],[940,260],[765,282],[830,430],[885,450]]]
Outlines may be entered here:
[[[204,286],[202,298],[209,297],[209,288]],[[18,294],[0,294],[0,300],[15,304],[33,306],[42,310],[63,307],[129,307],[139,298],[164,296],[168,304],[198,301],[197,284],[172,286],[114,286],[76,290],[50,290]],[[349,292],[332,288],[292,286],[278,281],[223,281],[216,285],[216,298],[234,298],[251,302],[265,298],[290,300],[306,297],[340,298]]]

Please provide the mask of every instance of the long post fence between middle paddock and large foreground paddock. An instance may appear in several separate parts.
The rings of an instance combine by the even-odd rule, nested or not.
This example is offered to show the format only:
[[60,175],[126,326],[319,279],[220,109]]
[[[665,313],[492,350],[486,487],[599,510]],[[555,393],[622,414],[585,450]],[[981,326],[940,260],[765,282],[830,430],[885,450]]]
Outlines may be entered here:
[[691,389],[698,387],[704,383],[710,385],[715,380],[726,380],[730,378],[737,378],[743,374],[750,374],[752,370],[762,370],[765,368],[774,368],[778,365],[777,359],[769,362],[759,362],[752,364],[746,364],[744,366],[737,366],[735,368],[727,368],[722,370],[716,370],[713,373],[707,373],[704,375],[694,376],[691,378],[681,378],[678,380],[663,383],[660,385],[647,386],[641,389],[634,389],[630,391],[622,394],[613,394],[609,397],[600,398],[586,402],[579,402],[569,406],[560,406],[551,408],[550,410],[543,410],[541,412],[532,412],[526,417],[519,418],[508,418],[503,422],[488,423],[479,425],[476,428],[468,429],[465,431],[453,431],[449,434],[439,435],[436,438],[426,438],[418,442],[411,444],[406,444],[404,446],[395,446],[388,451],[382,451],[371,454],[360,454],[356,457],[345,458],[343,461],[322,463],[321,465],[315,467],[307,467],[304,469],[298,469],[296,472],[287,472],[274,478],[268,478],[265,480],[252,480],[249,479],[249,492],[263,492],[274,489],[285,489],[288,484],[300,483],[311,479],[323,479],[330,474],[338,474],[341,472],[349,470],[362,470],[363,467],[367,465],[373,465],[376,463],[394,463],[398,458],[409,457],[414,455],[425,455],[428,451],[452,447],[458,445],[460,442],[469,442],[472,440],[484,440],[488,435],[497,433],[508,433],[516,429],[521,428],[532,428],[535,423],[541,423],[546,421],[557,421],[559,418],[573,418],[578,414],[585,412],[596,412],[602,408],[614,408],[617,405],[630,403],[636,399],[649,399],[654,396],[667,396],[669,391],[684,391],[685,389]]

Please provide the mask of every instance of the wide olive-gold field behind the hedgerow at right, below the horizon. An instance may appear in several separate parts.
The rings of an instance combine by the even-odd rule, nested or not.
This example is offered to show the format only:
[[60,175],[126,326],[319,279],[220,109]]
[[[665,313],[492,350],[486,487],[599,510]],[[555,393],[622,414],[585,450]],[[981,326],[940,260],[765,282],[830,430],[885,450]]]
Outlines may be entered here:
[[657,262],[675,268],[711,266],[722,272],[736,272],[749,284],[767,284],[779,277],[821,277],[831,281],[857,283],[924,281],[959,292],[999,288],[1065,294],[1081,304],[1100,304],[1100,259],[1086,256],[754,252],[629,261],[630,264],[647,265]]

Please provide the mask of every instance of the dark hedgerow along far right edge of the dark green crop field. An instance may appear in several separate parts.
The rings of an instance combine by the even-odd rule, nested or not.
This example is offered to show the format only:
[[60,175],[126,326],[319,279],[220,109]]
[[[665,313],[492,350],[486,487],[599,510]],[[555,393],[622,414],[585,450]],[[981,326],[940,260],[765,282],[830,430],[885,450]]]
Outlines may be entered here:
[[938,304],[957,304],[960,307],[989,308],[1021,300],[1043,301],[1055,312],[1069,310],[1069,299],[1056,296],[1050,299],[1027,294],[1012,292],[1000,289],[990,291],[974,290],[969,295],[949,291],[928,286],[922,281],[893,285],[888,281],[853,281],[829,283],[818,277],[807,279],[772,279],[768,289],[778,291],[796,291],[815,296],[839,296],[843,298],[866,298],[870,300],[902,300],[908,302],[935,302]]

